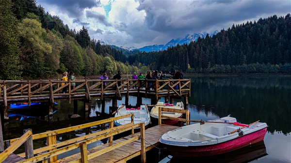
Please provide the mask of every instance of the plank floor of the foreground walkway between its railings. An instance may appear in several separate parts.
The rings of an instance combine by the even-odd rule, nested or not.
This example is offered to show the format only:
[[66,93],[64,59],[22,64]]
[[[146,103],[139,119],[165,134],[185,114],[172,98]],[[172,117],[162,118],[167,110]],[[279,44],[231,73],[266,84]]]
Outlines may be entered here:
[[[177,126],[169,126],[169,125],[157,125],[151,128],[146,129],[146,151],[154,148],[154,146],[160,145],[160,138],[162,134],[177,129]],[[140,133],[135,133],[117,140],[114,140],[113,143],[103,144],[101,146],[97,146],[95,148],[91,148],[87,151],[88,154],[94,153],[100,149],[110,147],[116,143],[120,143],[124,140],[128,140],[131,137],[140,135]],[[132,143],[129,143],[120,148],[114,149],[110,152],[102,154],[94,159],[89,160],[89,163],[126,163],[127,160],[139,156],[141,154],[141,141],[137,140]],[[68,163],[70,161],[80,159],[80,153],[74,154],[72,156],[66,157],[64,159],[58,160],[57,163]]]

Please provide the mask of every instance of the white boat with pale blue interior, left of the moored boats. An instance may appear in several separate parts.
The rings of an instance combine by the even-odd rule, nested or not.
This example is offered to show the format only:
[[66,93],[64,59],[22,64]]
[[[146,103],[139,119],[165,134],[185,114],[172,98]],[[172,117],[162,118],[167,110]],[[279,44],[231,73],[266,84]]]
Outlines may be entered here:
[[[134,116],[133,116],[134,124],[145,123],[146,127],[150,124],[149,111],[146,105],[141,105],[138,108],[126,108],[125,105],[120,105],[114,117],[123,116],[130,113],[134,113]],[[127,117],[124,119],[114,120],[113,123],[115,126],[120,126],[120,125],[124,125],[130,122],[131,122],[131,118]]]

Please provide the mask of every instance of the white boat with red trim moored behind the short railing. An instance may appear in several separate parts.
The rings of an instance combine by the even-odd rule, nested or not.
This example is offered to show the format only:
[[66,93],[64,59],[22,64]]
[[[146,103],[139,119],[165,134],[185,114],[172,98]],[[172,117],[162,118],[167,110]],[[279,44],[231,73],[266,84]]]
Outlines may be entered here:
[[[150,116],[157,121],[159,119],[159,108],[171,108],[171,109],[184,109],[184,105],[182,102],[177,103],[176,105],[173,104],[164,104],[163,102],[158,102],[150,111]],[[174,112],[162,112],[163,116],[167,117],[174,117],[174,118],[180,118],[182,116],[182,113],[174,113]],[[167,125],[174,125],[178,123],[178,120],[173,119],[164,119],[162,118],[162,123]]]

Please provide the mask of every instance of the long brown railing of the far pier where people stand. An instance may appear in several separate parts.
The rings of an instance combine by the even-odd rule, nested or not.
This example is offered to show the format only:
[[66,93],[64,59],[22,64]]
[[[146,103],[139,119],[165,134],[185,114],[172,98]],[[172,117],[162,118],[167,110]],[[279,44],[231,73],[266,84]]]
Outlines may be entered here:
[[[71,88],[71,83],[76,83],[76,87]],[[103,88],[103,82],[107,82]],[[129,96],[130,92],[138,91],[155,95],[156,97],[170,96],[175,94],[182,96],[186,94],[190,96],[190,79],[164,79],[164,80],[101,80],[101,79],[85,79],[75,81],[60,80],[4,80],[0,81],[0,103],[4,107],[8,103],[14,101],[26,102],[29,105],[37,99],[49,99],[50,104],[54,103],[54,97],[64,96],[71,101],[73,96],[82,96],[83,99],[91,100],[91,96],[104,97],[104,93],[113,93],[116,97],[121,94]],[[65,83],[61,86],[61,83]],[[137,89],[135,88],[137,86]],[[177,87],[178,86],[178,87]],[[68,87],[68,91],[62,93],[62,89]],[[166,93],[166,94],[165,94]]]

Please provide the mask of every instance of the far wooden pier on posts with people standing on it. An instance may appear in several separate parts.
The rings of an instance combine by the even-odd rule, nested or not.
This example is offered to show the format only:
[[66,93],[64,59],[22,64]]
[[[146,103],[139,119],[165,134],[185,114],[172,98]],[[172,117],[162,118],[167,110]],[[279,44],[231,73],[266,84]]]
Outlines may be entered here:
[[[76,83],[72,88],[71,83]],[[107,82],[103,88],[103,82]],[[61,83],[65,83],[61,86]],[[113,107],[117,107],[117,100],[122,96],[126,97],[126,105],[129,96],[137,97],[137,105],[142,104],[142,98],[151,99],[152,104],[156,104],[161,98],[165,102],[174,102],[175,98],[184,97],[184,104],[188,104],[190,97],[190,79],[164,79],[164,80],[101,80],[85,79],[75,81],[60,80],[2,80],[0,81],[0,106],[4,113],[4,120],[8,119],[8,109],[13,103],[31,103],[45,102],[49,104],[49,113],[52,114],[54,101],[68,100],[84,102],[85,110],[88,110],[88,103],[91,98],[100,98],[102,101],[102,112],[105,110],[104,98],[113,99]],[[62,89],[68,88],[68,91],[62,93]],[[76,104],[77,105],[77,104]]]

